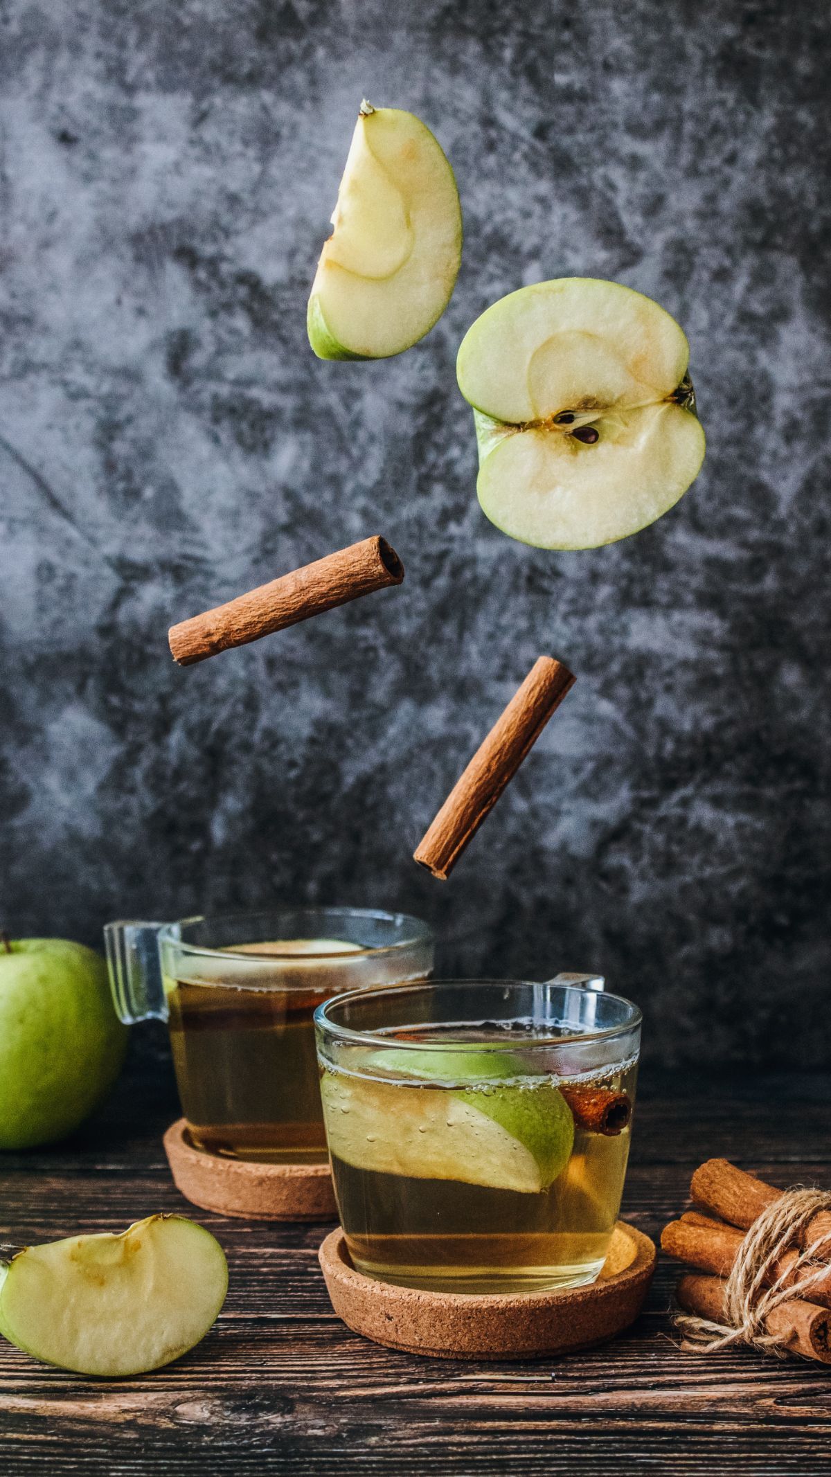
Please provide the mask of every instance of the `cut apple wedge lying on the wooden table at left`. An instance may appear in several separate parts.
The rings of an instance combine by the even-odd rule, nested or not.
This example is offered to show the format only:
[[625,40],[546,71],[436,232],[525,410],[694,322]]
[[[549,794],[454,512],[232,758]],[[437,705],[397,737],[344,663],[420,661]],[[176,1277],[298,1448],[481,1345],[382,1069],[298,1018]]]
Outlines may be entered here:
[[226,1291],[210,1230],[149,1216],[118,1236],[68,1236],[0,1263],[0,1334],[61,1369],[137,1375],[198,1344]]

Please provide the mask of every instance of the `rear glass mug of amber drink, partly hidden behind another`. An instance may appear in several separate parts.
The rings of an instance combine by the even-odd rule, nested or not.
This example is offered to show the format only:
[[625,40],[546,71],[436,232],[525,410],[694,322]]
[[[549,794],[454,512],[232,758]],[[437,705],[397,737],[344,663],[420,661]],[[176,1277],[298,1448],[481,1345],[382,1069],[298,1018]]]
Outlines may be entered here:
[[368,908],[108,923],[115,1009],[167,1021],[190,1139],[264,1164],[325,1164],[313,1012],[339,991],[424,981],[432,933]]

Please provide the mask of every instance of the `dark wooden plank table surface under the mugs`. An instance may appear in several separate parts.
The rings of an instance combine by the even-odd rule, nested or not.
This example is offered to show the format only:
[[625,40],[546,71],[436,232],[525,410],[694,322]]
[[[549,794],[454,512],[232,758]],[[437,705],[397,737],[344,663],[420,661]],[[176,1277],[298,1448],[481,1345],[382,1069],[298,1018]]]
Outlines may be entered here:
[[[646,1075],[624,1214],[655,1236],[685,1205],[692,1168],[716,1154],[775,1185],[831,1183],[830,1102],[825,1075]],[[176,1114],[167,1069],[136,1060],[74,1140],[0,1155],[0,1239],[187,1213],[161,1148]],[[114,1382],[50,1369],[0,1340],[3,1477],[818,1477],[831,1468],[831,1371],[750,1350],[682,1354],[666,1258],[644,1316],[614,1344],[483,1366],[351,1334],[317,1267],[326,1226],[193,1214],[230,1266],[214,1329],[167,1369]]]

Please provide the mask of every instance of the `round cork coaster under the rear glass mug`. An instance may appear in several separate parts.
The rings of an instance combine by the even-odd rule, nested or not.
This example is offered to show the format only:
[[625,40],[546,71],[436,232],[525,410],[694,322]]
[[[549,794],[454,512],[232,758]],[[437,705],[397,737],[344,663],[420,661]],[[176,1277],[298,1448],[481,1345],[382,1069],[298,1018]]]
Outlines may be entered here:
[[328,1164],[254,1164],[195,1149],[185,1118],[171,1123],[164,1152],[186,1199],[244,1220],[337,1220]]

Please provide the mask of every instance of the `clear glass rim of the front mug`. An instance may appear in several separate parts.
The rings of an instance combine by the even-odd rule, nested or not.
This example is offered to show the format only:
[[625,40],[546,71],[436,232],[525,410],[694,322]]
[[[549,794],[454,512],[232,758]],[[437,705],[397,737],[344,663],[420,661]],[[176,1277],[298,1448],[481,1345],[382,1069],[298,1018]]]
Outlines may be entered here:
[[[407,1041],[407,1040],[401,1040],[400,1037],[394,1037],[394,1038],[384,1037],[384,1034],[381,1031],[353,1031],[350,1027],[338,1025],[335,1021],[332,1021],[331,1016],[328,1015],[328,1010],[329,1010],[329,1007],[334,1009],[334,1007],[337,1007],[339,1004],[350,1004],[353,1000],[366,1000],[368,997],[369,998],[375,998],[376,995],[388,995],[390,998],[393,998],[394,995],[410,994],[410,993],[419,991],[419,990],[425,990],[425,991],[450,990],[450,988],[456,988],[458,990],[459,985],[462,985],[462,987],[463,985],[500,985],[502,988],[514,988],[517,985],[521,985],[523,988],[551,988],[551,990],[559,990],[559,991],[562,991],[564,995],[595,994],[595,991],[582,990],[580,985],[554,984],[554,981],[540,981],[540,979],[424,979],[424,981],[401,982],[401,984],[397,984],[397,985],[366,985],[363,990],[360,987],[357,990],[342,990],[337,995],[329,995],[328,1000],[323,1000],[317,1006],[317,1009],[314,1012],[314,1025],[319,1028],[319,1031],[322,1034],[325,1032],[328,1037],[337,1038],[338,1041],[348,1041],[348,1043],[356,1044],[356,1046],[378,1046],[378,1044],[381,1044],[384,1041],[387,1044],[390,1044],[390,1041],[394,1040],[396,1050],[399,1050],[401,1047],[406,1052],[456,1052],[458,1053],[461,1046],[465,1046],[465,1044],[471,1046],[472,1043],[462,1043],[462,1041]],[[518,1052],[536,1052],[536,1050],[551,1052],[551,1047],[554,1044],[559,1044],[559,1043],[565,1043],[565,1041],[568,1041],[568,1044],[574,1044],[577,1041],[602,1041],[602,1040],[608,1041],[611,1037],[626,1035],[627,1031],[633,1031],[633,1029],[636,1029],[641,1025],[641,1022],[644,1019],[644,1015],[642,1015],[639,1006],[635,1004],[635,1001],[627,1000],[626,995],[613,994],[611,990],[610,991],[596,991],[596,995],[598,995],[598,998],[616,1000],[618,1004],[626,1006],[627,1010],[629,1010],[629,1018],[626,1021],[623,1021],[623,1022],[618,1022],[617,1025],[602,1027],[598,1031],[574,1031],[574,1032],[567,1032],[564,1035],[556,1037],[555,1040],[548,1040],[548,1041],[515,1041],[515,1040],[514,1041],[508,1041],[506,1040],[506,1041],[494,1041],[493,1044],[489,1041],[489,1047],[487,1047],[489,1052],[490,1050],[494,1050],[494,1052],[512,1052],[514,1055],[517,1055]],[[463,1022],[463,1021],[447,1022],[447,1025],[458,1025],[458,1027],[462,1027],[465,1024],[466,1025],[474,1025],[475,1022],[472,1022],[472,1021],[469,1021],[469,1022]],[[424,1025],[425,1027],[441,1025],[441,1022],[438,1022],[438,1021],[435,1021],[435,1022],[425,1021]]]

